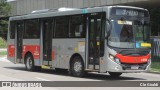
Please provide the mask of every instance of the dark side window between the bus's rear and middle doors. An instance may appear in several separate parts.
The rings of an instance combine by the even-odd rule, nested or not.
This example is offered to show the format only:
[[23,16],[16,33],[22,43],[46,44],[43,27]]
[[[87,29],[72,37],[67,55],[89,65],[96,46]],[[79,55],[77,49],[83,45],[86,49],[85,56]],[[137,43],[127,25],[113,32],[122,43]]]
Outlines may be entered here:
[[38,39],[38,38],[40,38],[38,19],[27,20],[25,22],[24,38],[25,39]]

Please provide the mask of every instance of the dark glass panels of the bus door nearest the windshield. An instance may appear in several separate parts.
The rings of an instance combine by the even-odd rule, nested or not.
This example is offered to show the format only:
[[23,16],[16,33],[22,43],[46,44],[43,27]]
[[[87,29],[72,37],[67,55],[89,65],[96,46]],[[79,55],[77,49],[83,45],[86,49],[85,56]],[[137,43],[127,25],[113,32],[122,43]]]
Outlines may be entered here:
[[89,32],[89,64],[99,64],[101,19],[91,19]]

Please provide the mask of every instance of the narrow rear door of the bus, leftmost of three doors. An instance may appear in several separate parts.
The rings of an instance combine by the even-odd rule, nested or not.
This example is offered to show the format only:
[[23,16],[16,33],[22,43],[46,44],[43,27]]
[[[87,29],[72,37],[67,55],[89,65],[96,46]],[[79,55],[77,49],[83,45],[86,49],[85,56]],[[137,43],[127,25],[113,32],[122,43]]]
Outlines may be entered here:
[[22,46],[23,46],[23,30],[24,24],[23,22],[16,23],[16,62],[15,63],[22,63]]

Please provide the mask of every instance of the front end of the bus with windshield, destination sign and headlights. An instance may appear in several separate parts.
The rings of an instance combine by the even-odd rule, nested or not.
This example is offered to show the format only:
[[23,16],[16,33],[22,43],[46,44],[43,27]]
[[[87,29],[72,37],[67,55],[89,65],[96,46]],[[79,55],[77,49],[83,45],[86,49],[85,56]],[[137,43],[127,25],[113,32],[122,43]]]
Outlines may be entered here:
[[123,72],[147,71],[151,64],[148,11],[124,6],[109,10],[107,71],[117,76]]

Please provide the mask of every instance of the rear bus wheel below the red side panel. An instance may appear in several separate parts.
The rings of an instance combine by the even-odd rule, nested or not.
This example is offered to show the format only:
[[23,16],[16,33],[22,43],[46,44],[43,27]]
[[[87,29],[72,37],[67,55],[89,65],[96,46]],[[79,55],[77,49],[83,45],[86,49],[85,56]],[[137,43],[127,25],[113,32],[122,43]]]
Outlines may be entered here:
[[34,67],[34,60],[32,55],[28,54],[25,58],[25,67],[28,71],[34,71],[35,67]]

